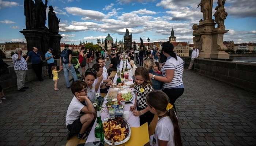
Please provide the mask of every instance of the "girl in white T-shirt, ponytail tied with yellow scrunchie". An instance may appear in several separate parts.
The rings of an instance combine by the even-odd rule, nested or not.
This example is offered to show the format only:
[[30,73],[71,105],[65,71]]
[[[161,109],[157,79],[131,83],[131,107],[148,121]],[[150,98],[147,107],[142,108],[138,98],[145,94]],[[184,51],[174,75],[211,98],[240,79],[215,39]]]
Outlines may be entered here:
[[155,133],[150,136],[150,146],[182,146],[178,118],[168,96],[159,90],[152,91],[146,100],[149,111],[158,115]]

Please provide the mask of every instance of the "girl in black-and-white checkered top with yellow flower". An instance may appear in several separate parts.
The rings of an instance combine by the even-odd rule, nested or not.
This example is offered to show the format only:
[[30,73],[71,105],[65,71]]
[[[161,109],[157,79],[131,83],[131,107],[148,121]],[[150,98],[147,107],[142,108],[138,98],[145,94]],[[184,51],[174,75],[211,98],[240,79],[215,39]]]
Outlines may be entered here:
[[130,110],[133,115],[140,116],[140,125],[146,122],[149,125],[154,118],[154,114],[148,109],[146,100],[147,94],[153,90],[147,69],[144,67],[137,68],[135,70],[135,87],[133,91],[136,94],[136,100],[134,105],[130,107]]

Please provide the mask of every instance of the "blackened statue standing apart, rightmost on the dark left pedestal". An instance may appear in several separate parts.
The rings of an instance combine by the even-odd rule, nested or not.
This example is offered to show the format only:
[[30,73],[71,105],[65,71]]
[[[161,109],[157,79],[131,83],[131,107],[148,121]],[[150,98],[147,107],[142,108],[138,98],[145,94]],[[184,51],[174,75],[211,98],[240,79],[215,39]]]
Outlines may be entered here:
[[48,12],[48,27],[49,31],[52,32],[53,34],[58,34],[59,33],[59,22],[60,20],[57,18],[55,12],[53,12],[54,9],[52,5],[49,6],[49,12]]

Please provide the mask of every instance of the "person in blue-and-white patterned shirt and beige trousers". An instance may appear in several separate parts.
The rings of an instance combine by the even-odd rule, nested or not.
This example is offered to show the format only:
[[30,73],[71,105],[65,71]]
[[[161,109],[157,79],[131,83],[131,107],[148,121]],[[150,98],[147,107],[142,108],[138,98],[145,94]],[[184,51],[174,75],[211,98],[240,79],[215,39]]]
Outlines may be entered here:
[[14,71],[17,76],[17,87],[18,91],[24,92],[25,89],[29,87],[25,87],[25,78],[26,78],[26,70],[27,70],[27,62],[22,57],[22,49],[16,48],[14,51],[14,55],[12,55],[12,61],[14,65]]

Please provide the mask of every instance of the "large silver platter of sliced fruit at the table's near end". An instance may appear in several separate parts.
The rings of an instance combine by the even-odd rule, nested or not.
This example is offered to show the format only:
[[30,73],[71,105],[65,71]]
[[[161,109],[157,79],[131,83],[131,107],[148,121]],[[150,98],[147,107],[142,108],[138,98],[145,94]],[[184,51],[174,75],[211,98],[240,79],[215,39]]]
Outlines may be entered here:
[[[114,143],[114,145],[121,145],[131,138],[131,127],[123,117],[110,116],[105,118],[102,123],[104,128],[104,141],[108,145],[113,146],[112,143]],[[112,126],[114,126],[114,128]]]

